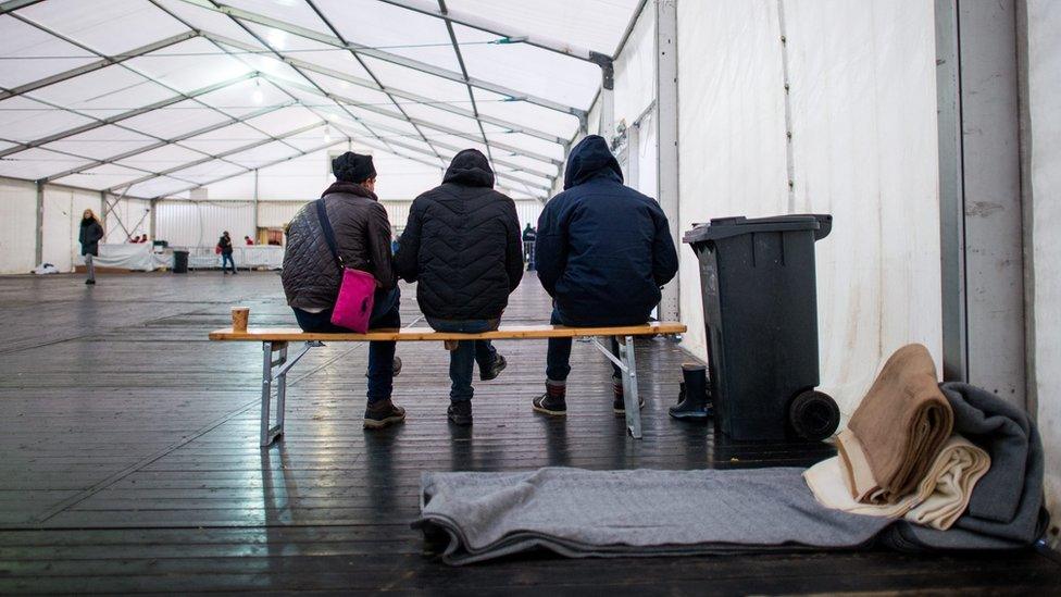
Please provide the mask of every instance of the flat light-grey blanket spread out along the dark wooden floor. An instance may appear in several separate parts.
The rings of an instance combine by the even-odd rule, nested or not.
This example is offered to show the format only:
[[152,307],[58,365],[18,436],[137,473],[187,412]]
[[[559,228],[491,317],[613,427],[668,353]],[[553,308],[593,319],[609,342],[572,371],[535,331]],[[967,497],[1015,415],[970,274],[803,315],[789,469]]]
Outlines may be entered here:
[[820,506],[802,469],[424,473],[422,518],[444,560],[544,547],[567,557],[852,548],[890,521]]

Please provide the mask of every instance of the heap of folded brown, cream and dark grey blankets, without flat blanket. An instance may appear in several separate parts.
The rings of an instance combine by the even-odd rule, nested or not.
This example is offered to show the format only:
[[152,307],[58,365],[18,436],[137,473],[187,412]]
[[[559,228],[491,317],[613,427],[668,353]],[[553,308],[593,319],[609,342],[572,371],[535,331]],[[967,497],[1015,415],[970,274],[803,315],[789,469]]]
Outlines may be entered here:
[[1035,426],[994,394],[935,375],[923,346],[899,349],[808,486],[828,508],[902,519],[885,534],[897,547],[1032,543],[1043,522]]

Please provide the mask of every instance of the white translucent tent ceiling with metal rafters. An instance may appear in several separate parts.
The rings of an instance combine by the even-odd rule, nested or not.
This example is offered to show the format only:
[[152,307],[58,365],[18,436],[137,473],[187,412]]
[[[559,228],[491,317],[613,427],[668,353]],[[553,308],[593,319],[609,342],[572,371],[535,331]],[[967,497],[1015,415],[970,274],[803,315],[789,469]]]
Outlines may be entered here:
[[544,197],[644,3],[0,1],[0,175],[159,198],[329,148],[437,172],[474,147]]

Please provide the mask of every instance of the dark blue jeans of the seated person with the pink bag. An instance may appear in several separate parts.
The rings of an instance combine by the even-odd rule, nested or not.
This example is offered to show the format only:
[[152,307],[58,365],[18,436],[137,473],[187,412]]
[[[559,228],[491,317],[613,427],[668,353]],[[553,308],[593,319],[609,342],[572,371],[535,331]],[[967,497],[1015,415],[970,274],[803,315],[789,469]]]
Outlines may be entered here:
[[[373,298],[372,314],[369,326],[401,327],[401,314],[398,303],[401,293],[396,287],[392,290],[377,289]],[[332,309],[320,313],[310,313],[296,307],[295,319],[303,332],[320,332],[324,334],[349,334],[350,331],[332,323]],[[395,389],[395,346],[392,341],[369,343],[369,403],[390,398]]]

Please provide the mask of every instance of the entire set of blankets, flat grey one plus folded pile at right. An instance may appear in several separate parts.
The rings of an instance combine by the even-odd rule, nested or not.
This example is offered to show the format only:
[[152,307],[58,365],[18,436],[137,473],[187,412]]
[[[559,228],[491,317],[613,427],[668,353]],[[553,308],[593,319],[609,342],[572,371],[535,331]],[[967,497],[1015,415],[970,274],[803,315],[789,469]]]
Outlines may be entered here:
[[1003,549],[1033,544],[1046,527],[1035,425],[986,390],[937,386],[924,347],[889,359],[839,446],[841,456],[807,471],[424,473],[414,526],[444,536],[442,560],[454,565],[533,548],[567,557],[875,543]]

